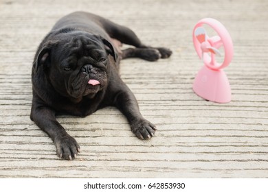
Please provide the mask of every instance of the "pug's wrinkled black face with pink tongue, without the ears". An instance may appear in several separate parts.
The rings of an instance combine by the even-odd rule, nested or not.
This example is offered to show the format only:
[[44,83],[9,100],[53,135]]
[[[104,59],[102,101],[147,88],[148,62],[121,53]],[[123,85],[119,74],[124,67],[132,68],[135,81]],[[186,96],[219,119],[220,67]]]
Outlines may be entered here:
[[49,80],[56,91],[73,98],[92,98],[107,86],[109,57],[98,37],[66,34],[51,51]]

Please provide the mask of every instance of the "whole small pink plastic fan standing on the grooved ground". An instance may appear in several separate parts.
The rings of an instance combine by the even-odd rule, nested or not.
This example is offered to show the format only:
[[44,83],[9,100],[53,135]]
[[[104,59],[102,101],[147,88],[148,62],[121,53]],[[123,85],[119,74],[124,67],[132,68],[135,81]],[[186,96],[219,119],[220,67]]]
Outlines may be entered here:
[[[203,24],[209,25],[219,36],[211,38],[205,32]],[[194,48],[204,66],[194,79],[193,90],[197,95],[217,103],[231,101],[231,88],[224,67],[227,67],[233,57],[233,44],[230,34],[223,24],[215,19],[201,19],[194,27],[192,34]],[[219,48],[223,46],[224,60],[216,62],[216,56],[221,56]]]

